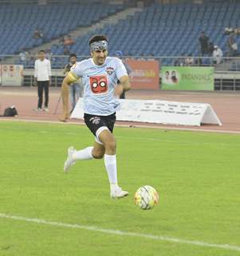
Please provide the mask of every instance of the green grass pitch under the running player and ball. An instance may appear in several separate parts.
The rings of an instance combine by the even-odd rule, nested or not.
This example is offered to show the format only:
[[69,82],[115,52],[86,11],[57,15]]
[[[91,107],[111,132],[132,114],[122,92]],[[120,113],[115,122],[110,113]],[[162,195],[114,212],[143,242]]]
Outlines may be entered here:
[[[91,146],[85,126],[0,122],[0,214],[240,248],[240,136],[115,129],[120,186],[109,198],[103,160],[63,163],[69,146]],[[159,205],[140,210],[150,185]],[[159,241],[0,218],[0,255],[233,256],[238,250]]]

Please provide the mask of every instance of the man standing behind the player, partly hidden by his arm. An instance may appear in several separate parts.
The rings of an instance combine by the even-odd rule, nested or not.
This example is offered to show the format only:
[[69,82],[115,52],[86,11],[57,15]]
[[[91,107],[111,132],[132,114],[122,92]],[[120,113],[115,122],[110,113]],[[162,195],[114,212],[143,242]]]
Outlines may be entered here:
[[[69,71],[71,70],[71,68],[74,65],[77,65],[77,55],[76,54],[70,54],[69,55],[69,61],[70,61],[69,64],[67,64],[65,66],[65,69],[64,69],[64,74],[65,75],[67,75],[69,73]],[[70,111],[70,113],[73,112],[78,98],[81,98],[81,97],[82,97],[82,86],[81,86],[80,80],[78,80],[77,82],[73,82],[70,86],[70,101],[71,101],[71,104],[72,104],[72,110]]]

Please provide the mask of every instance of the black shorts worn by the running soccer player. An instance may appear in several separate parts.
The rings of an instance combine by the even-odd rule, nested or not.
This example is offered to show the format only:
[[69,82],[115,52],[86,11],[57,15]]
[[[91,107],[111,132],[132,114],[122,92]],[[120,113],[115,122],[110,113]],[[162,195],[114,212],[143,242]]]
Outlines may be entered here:
[[96,131],[103,126],[107,126],[112,133],[114,124],[116,122],[116,113],[106,115],[106,116],[95,115],[95,114],[85,114],[84,118],[85,118],[86,126],[88,126],[92,134],[96,136]]

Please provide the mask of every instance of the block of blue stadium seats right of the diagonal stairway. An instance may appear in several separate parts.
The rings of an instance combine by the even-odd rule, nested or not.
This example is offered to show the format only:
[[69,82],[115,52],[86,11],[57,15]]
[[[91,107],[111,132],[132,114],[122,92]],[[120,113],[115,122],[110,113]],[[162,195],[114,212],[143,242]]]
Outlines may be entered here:
[[[240,27],[240,2],[199,4],[153,4],[116,24],[108,25],[95,33],[110,38],[110,54],[122,50],[125,55],[179,56],[199,55],[199,34],[205,31],[210,42],[226,52],[226,26]],[[73,51],[89,54],[86,47],[91,34],[77,39]],[[240,45],[240,37],[236,38]],[[165,64],[173,60],[165,59]],[[204,59],[203,64],[210,60]]]

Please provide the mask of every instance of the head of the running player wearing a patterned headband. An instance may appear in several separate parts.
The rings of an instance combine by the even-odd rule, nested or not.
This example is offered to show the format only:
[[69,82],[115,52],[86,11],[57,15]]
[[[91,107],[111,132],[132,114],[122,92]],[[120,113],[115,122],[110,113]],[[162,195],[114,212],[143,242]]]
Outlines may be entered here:
[[93,62],[103,65],[108,56],[108,38],[104,34],[96,34],[89,40]]

